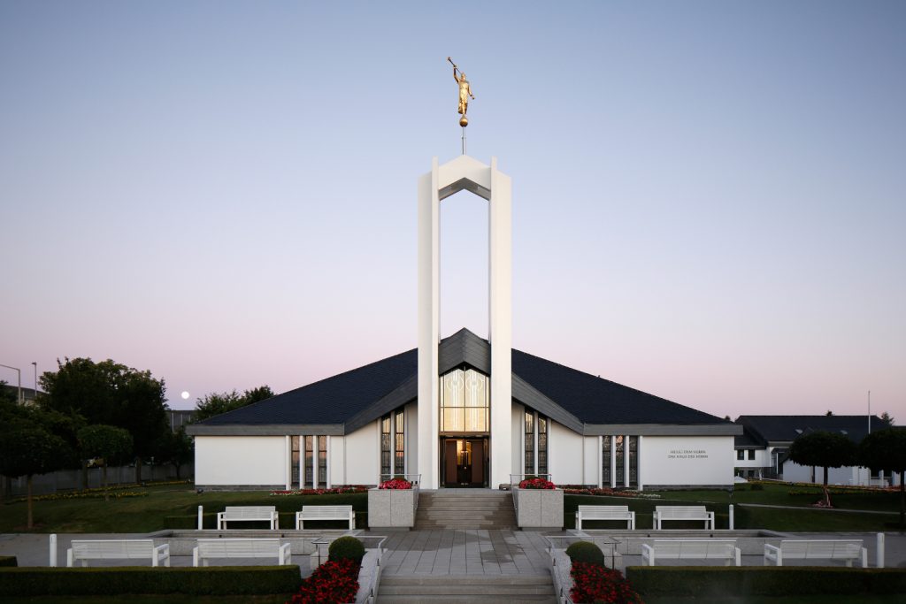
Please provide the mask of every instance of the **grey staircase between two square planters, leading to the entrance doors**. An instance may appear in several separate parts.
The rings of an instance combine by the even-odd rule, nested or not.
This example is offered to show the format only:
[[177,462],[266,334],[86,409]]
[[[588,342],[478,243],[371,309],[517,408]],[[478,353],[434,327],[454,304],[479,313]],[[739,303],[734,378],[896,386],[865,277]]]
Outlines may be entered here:
[[515,531],[513,494],[487,489],[422,491],[415,529]]

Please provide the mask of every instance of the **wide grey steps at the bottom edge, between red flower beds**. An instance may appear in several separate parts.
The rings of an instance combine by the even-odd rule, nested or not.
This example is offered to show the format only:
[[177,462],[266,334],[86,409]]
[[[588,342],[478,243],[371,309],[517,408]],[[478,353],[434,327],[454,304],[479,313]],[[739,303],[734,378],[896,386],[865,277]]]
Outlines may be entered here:
[[378,604],[391,602],[546,602],[555,604],[548,575],[383,575]]

